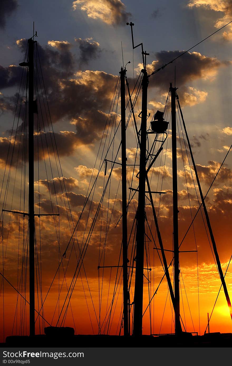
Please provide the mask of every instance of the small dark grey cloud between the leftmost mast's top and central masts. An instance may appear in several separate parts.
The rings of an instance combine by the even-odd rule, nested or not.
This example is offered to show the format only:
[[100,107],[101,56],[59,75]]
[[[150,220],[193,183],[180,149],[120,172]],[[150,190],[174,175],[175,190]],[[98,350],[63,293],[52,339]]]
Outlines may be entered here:
[[93,41],[93,38],[75,38],[75,41],[79,45],[80,49],[80,65],[88,64],[89,60],[99,57],[101,49],[98,42]]

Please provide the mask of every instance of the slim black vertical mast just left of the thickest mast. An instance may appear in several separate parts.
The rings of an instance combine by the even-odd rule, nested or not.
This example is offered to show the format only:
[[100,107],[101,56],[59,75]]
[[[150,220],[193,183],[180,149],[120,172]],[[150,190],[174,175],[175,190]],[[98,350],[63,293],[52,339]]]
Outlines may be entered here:
[[127,202],[126,202],[126,111],[125,111],[125,70],[120,71],[121,86],[121,149],[122,149],[122,276],[123,276],[123,326],[124,336],[128,330],[128,255],[127,255]]

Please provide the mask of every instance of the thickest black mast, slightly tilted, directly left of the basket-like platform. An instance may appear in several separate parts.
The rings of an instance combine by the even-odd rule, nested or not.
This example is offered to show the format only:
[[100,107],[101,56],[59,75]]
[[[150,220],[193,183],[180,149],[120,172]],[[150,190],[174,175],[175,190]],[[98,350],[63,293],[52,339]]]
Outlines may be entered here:
[[145,238],[145,182],[146,182],[146,141],[147,141],[147,71],[142,70],[142,113],[140,128],[139,197],[136,213],[136,269],[133,335],[142,335],[143,321],[143,266]]

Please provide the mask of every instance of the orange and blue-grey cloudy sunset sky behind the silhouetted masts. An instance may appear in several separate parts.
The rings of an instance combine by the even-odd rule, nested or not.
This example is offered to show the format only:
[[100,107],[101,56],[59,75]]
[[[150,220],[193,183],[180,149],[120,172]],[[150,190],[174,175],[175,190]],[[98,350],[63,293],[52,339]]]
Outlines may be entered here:
[[[53,287],[44,303],[43,316],[49,324],[56,325],[58,313],[62,310],[63,313],[59,324],[57,323],[58,325],[74,326],[75,323],[76,332],[82,334],[97,333],[100,325],[102,326],[102,332],[107,330],[106,320],[114,291],[116,269],[104,269],[102,281],[103,270],[99,269],[98,271],[97,266],[118,265],[122,240],[121,221],[119,221],[116,228],[115,225],[121,216],[120,165],[114,167],[110,178],[110,188],[107,186],[106,195],[100,206],[99,202],[101,202],[111,168],[111,163],[108,163],[106,175],[104,175],[106,149],[113,138],[115,128],[120,122],[120,102],[118,109],[116,104],[118,75],[122,66],[122,49],[124,66],[130,61],[126,69],[131,92],[142,67],[141,48],[138,47],[132,51],[130,27],[126,26],[126,22],[132,21],[135,23],[133,27],[135,45],[143,42],[144,50],[150,53],[150,56],[147,56],[147,71],[148,74],[151,74],[154,70],[169,63],[183,51],[191,48],[231,20],[232,3],[229,0],[164,0],[162,3],[150,0],[142,3],[137,0],[125,0],[124,2],[120,0],[77,0],[74,2],[67,0],[48,0],[47,2],[1,1],[1,186],[3,183],[0,197],[1,209],[4,206],[4,209],[8,210],[23,210],[23,195],[20,196],[20,190],[23,185],[21,176],[25,156],[23,155],[24,150],[20,139],[21,127],[24,126],[21,118],[19,119],[18,130],[16,131],[17,119],[13,127],[16,146],[14,154],[16,155],[13,156],[11,164],[9,158],[7,160],[7,153],[22,75],[22,67],[19,67],[18,64],[25,58],[27,39],[33,35],[33,21],[38,34],[35,40],[37,41],[38,54],[43,69],[44,85],[54,129],[54,135],[52,136],[55,136],[60,158],[61,168],[56,153],[55,155],[53,153],[52,139],[54,137],[50,137],[51,123],[46,122],[46,120],[44,123],[43,120],[43,127],[41,124],[38,128],[38,124],[35,122],[34,141],[35,146],[37,146],[39,161],[37,164],[37,158],[35,157],[35,212],[38,213],[38,210],[40,210],[40,213],[58,213],[59,210],[60,213],[59,218],[57,216],[40,218],[40,238],[38,234],[39,218],[35,218],[37,243],[41,240],[41,245],[38,244],[38,264],[40,266],[41,261],[43,299],[54,278]],[[157,109],[163,111],[170,82],[174,85],[175,72],[177,93],[194,153],[200,183],[202,184],[202,191],[205,195],[231,146],[232,23],[149,78],[148,113],[151,116],[148,119],[147,128]],[[116,94],[114,94],[115,87]],[[111,101],[114,98],[116,98],[116,103],[114,107],[111,107]],[[25,96],[23,101],[25,101]],[[26,105],[26,103],[23,103],[23,105]],[[44,108],[47,107],[42,107],[43,110]],[[138,126],[140,126],[140,119],[137,116],[140,111],[141,96],[138,97],[135,105]],[[111,120],[109,118],[107,120],[108,113],[112,116]],[[129,116],[128,109],[126,116]],[[166,119],[170,121],[170,109],[167,112]],[[41,121],[40,123],[42,123]],[[108,122],[106,123],[106,121]],[[199,208],[196,191],[198,197],[199,192],[198,188],[195,191],[178,117],[177,121],[180,132],[180,135],[177,136],[177,164],[179,241],[181,242],[191,223],[191,214],[193,217]],[[105,126],[106,129],[104,130]],[[107,129],[108,133],[106,133]],[[128,164],[134,164],[135,161],[138,164],[132,119],[129,120],[126,134]],[[159,212],[158,222],[163,244],[167,250],[172,250],[173,231],[171,134],[172,126],[169,124],[169,138],[149,175],[152,190],[166,192],[161,197],[159,195],[154,196],[154,201],[157,213]],[[49,140],[47,136],[49,136]],[[152,136],[149,137],[149,146],[152,144]],[[118,134],[115,135],[114,144],[109,148],[106,156],[108,160],[116,158],[116,161],[120,163],[121,153],[119,152],[117,155],[120,139],[119,129]],[[36,145],[37,141],[38,145]],[[43,153],[41,146],[46,143],[48,148]],[[105,143],[104,147],[103,143]],[[12,140],[10,146],[9,153],[12,154]],[[11,167],[9,180],[7,180],[8,173],[5,173],[4,176],[6,163],[6,171]],[[103,165],[101,166],[101,164]],[[39,175],[38,167],[41,169]],[[98,170],[100,170],[100,173],[94,185]],[[135,175],[137,172],[138,167],[135,168]],[[128,166],[128,187],[131,185],[132,176],[133,168]],[[27,173],[24,176],[25,197],[28,193],[26,177]],[[206,199],[224,273],[232,255],[231,182],[232,160],[230,152]],[[132,187],[137,188],[137,184],[137,178],[134,176]],[[93,185],[95,187],[94,192],[92,191],[90,194],[80,219],[85,198]],[[67,193],[65,193],[65,187]],[[5,194],[6,188],[7,194]],[[128,189],[128,195],[129,192]],[[7,203],[5,203],[6,197]],[[68,213],[66,213],[66,208]],[[95,222],[94,216],[98,208],[99,213]],[[136,208],[137,195],[135,195],[128,209],[128,237],[133,226]],[[25,199],[25,211],[28,212],[27,198]],[[155,244],[158,246],[155,225],[152,221],[152,210],[149,205],[146,206],[146,216],[151,225]],[[203,210],[202,216],[205,219]],[[181,246],[181,250],[193,252],[180,254],[181,317],[188,332],[198,332],[200,334],[203,334],[206,329],[207,313],[211,314],[221,285],[202,216],[199,212],[194,221],[194,231],[192,228],[189,230]],[[79,224],[75,234],[77,238],[75,239],[75,235],[72,236],[74,246],[71,249],[73,240],[70,240],[70,238],[78,219]],[[27,225],[27,217],[24,220],[25,225]],[[16,214],[5,213],[4,218],[1,217],[4,240],[1,236],[0,272],[4,272],[6,279],[29,300],[28,287],[23,287],[21,283],[23,280],[19,281],[17,274],[21,271],[22,266],[22,278],[25,276],[26,271],[24,259],[27,252],[27,229],[24,232],[24,244],[21,243],[22,232],[18,234],[19,226],[23,230],[22,221],[23,218],[19,218]],[[91,225],[93,222],[95,222],[95,225],[92,231]],[[102,229],[100,229],[101,224]],[[8,229],[9,234],[7,234]],[[144,310],[148,305],[149,296],[153,296],[163,276],[163,269],[157,251],[154,250],[154,240],[151,238],[149,228],[147,230],[147,235],[151,241],[148,240],[149,243],[148,241],[146,243],[146,253],[148,253],[149,259],[144,262],[144,268],[151,268],[151,272],[149,272],[151,283],[148,291],[147,280],[144,277]],[[107,240],[104,239],[106,232],[108,234]],[[91,233],[91,236],[88,233]],[[64,253],[69,242],[71,244],[60,265],[59,277],[58,273],[55,276],[60,262],[60,255]],[[132,242],[133,230],[128,248],[129,259],[133,252],[133,247],[130,246]],[[73,288],[71,281],[76,269],[76,275],[78,274],[77,258],[80,254],[80,246],[82,245],[82,248],[85,248],[84,244],[86,244],[87,249],[86,253],[84,252],[84,266],[81,266],[80,275],[78,275]],[[196,249],[198,255],[194,252]],[[169,264],[172,255],[170,252],[166,253]],[[78,264],[80,264],[80,258]],[[120,259],[119,264],[122,264],[122,259]],[[65,280],[63,280],[63,273],[66,268]],[[114,316],[112,315],[111,325],[108,328],[110,334],[116,332],[118,334],[120,328],[122,309],[122,274],[119,276],[120,271],[119,268],[118,285],[114,295],[115,307],[112,308]],[[146,270],[144,275],[147,276]],[[133,276],[132,289],[134,285]],[[170,276],[173,280],[172,267],[170,267]],[[28,280],[28,272],[26,277]],[[232,264],[229,265],[225,280],[232,299]],[[69,306],[66,314],[62,306],[70,284],[73,293],[70,301],[71,307]],[[17,292],[7,281],[4,281],[3,286],[2,278],[0,279],[0,286],[0,319],[2,322],[4,313],[4,336],[22,331],[20,321],[22,312],[26,313],[27,318],[24,324],[24,333],[28,332],[28,305],[24,308],[23,303],[19,303],[21,296],[17,295]],[[60,289],[60,300],[57,304]],[[132,293],[130,296],[133,296]],[[133,301],[132,297],[130,300]],[[15,312],[17,301],[18,309]],[[37,310],[38,307],[40,308],[40,301],[41,299],[37,302],[36,295]],[[103,315],[99,325],[100,308]],[[151,302],[151,312],[151,328],[149,310],[144,315],[144,334],[174,331],[172,306],[170,305],[166,280],[163,280]],[[65,318],[65,323],[60,324],[63,318]],[[40,326],[41,329],[43,328],[41,324],[39,325],[37,321],[37,333]],[[222,290],[210,320],[210,331],[232,332],[232,321]],[[123,330],[121,334],[123,334]],[[1,340],[3,340],[3,333],[0,335]]]

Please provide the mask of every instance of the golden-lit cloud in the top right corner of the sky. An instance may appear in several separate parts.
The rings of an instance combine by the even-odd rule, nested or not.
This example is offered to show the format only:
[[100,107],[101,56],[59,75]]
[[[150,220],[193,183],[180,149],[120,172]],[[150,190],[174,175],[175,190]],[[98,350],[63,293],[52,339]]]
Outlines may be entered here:
[[[231,21],[232,16],[232,2],[231,0],[217,1],[217,0],[190,0],[188,6],[193,7],[203,7],[205,9],[210,9],[220,13],[224,13],[222,18],[218,18],[215,27],[221,28],[225,24]],[[222,33],[224,40],[232,41],[232,25],[228,25],[228,31]]]

